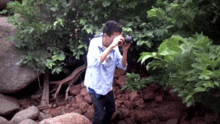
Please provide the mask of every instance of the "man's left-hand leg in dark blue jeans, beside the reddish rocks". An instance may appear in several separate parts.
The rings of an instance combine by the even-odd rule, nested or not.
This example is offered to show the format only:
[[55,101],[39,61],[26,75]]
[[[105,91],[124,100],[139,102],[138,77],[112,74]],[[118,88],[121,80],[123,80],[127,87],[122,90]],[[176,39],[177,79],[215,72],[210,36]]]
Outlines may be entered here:
[[92,99],[92,103],[94,105],[95,109],[95,117],[93,118],[92,123],[93,124],[105,124],[103,123],[103,119],[105,116],[105,109],[104,109],[104,103],[105,99],[103,96],[100,96],[100,98],[96,97],[95,93],[89,93]]

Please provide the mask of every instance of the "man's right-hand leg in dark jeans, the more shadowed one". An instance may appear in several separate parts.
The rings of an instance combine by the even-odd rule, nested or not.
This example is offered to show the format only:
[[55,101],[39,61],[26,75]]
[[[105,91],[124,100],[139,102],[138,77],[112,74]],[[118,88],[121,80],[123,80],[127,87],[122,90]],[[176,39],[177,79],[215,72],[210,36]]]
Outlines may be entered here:
[[115,112],[115,99],[113,91],[105,96],[105,118],[104,124],[110,124],[113,113]]

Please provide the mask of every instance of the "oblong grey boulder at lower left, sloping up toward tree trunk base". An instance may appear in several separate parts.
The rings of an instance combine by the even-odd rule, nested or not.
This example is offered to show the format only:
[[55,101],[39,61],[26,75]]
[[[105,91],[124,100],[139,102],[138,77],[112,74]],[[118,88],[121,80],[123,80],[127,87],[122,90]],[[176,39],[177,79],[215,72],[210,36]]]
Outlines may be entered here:
[[27,109],[24,109],[24,110],[16,113],[14,115],[14,117],[11,119],[10,123],[11,124],[18,124],[21,121],[26,120],[26,119],[34,120],[34,119],[37,119],[39,117],[39,115],[40,115],[40,112],[39,112],[38,108],[35,106],[30,106]]

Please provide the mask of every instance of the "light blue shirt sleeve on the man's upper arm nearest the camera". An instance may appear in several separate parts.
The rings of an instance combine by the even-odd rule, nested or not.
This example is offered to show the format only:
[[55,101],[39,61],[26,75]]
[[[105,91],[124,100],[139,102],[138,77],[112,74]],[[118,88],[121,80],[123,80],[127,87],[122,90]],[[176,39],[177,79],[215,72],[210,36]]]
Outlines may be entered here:
[[99,66],[101,64],[100,57],[101,52],[96,44],[96,40],[91,40],[87,54],[87,66]]

